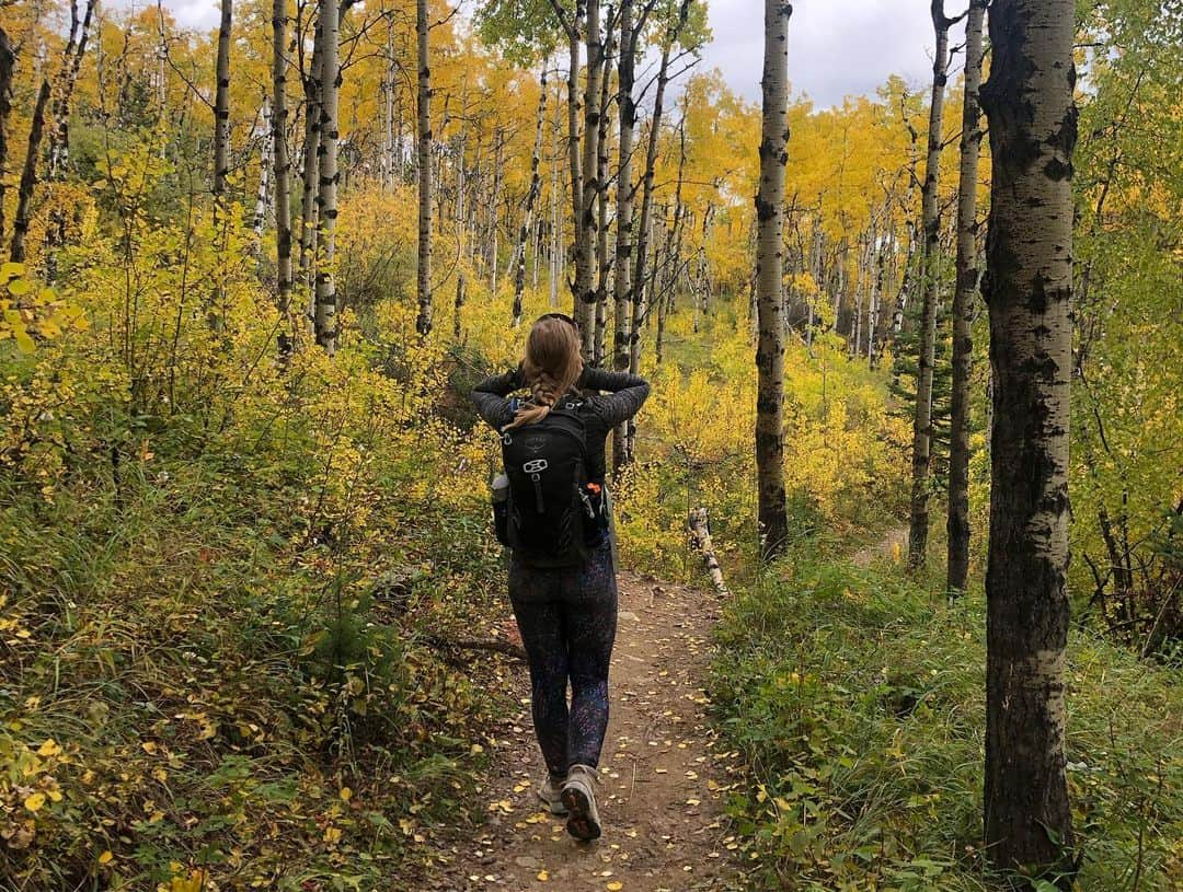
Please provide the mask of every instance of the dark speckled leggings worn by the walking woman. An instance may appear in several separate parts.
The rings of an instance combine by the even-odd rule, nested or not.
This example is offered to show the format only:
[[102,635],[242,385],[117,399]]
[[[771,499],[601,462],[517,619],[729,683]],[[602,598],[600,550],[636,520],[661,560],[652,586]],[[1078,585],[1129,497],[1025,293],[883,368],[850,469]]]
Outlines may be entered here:
[[583,567],[526,567],[511,558],[510,601],[530,662],[534,730],[547,769],[565,777],[574,764],[595,768],[608,729],[608,663],[616,638],[610,542]]

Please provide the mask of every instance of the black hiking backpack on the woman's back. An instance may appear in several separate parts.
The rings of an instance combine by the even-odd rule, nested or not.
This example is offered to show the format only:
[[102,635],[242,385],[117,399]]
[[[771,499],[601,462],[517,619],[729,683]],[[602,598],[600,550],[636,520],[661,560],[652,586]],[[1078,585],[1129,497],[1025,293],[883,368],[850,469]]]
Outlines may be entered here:
[[502,434],[510,481],[506,545],[534,567],[587,561],[587,444],[580,403],[561,402],[534,424]]

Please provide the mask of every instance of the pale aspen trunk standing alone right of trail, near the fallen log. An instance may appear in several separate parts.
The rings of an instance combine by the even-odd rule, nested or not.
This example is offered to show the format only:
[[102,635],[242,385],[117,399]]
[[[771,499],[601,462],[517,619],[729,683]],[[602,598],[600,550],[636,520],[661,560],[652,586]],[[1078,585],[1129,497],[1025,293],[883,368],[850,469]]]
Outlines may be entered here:
[[788,30],[791,5],[764,0],[763,121],[756,219],[756,474],[761,556],[784,553],[789,521],[784,500],[784,315],[781,302],[784,252],[784,165],[788,122]]

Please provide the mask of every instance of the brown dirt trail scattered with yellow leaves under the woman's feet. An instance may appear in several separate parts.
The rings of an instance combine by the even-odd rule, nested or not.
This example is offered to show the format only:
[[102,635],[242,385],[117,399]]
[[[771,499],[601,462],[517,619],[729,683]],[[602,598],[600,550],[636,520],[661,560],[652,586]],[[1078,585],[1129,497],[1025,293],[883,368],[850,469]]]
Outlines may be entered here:
[[[621,573],[608,736],[596,790],[603,836],[581,845],[542,808],[543,779],[524,668],[521,712],[508,716],[481,794],[489,820],[454,836],[447,864],[416,890],[562,888],[700,892],[733,888],[736,842],[723,800],[738,754],[722,751],[706,718],[705,673],[718,595]],[[729,848],[729,846],[731,848]]]

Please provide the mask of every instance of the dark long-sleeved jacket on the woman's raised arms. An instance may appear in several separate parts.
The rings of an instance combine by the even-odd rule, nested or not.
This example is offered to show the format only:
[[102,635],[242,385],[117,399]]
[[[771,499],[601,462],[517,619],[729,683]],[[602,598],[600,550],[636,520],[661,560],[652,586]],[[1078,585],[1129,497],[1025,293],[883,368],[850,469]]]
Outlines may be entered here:
[[[472,390],[477,412],[497,431],[513,421],[521,401],[508,399],[510,393],[524,390],[521,372],[513,370],[504,375],[485,378]],[[584,369],[576,383],[576,396],[582,398],[580,417],[583,419],[588,452],[588,480],[602,483],[607,476],[605,447],[608,434],[618,424],[636,415],[649,395],[649,383],[628,372],[610,372],[605,369]],[[599,391],[609,391],[600,393]]]

